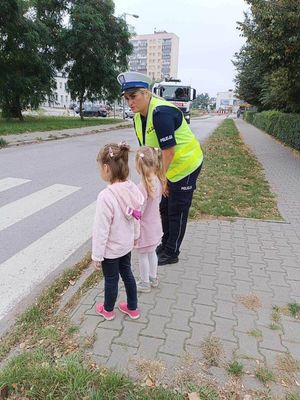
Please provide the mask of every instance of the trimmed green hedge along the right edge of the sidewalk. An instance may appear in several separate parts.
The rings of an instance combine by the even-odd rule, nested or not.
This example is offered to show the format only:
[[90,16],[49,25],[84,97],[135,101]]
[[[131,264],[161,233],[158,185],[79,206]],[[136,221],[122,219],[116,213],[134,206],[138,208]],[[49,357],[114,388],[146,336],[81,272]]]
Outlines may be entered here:
[[288,144],[300,150],[300,115],[285,114],[280,111],[245,112],[244,119]]

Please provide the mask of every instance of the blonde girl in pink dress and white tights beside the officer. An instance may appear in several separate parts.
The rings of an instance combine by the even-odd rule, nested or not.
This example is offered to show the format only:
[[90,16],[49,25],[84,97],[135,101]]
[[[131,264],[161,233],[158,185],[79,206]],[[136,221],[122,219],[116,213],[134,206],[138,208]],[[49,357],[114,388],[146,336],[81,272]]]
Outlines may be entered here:
[[138,251],[141,280],[137,283],[138,292],[150,292],[151,286],[158,286],[156,247],[163,235],[159,203],[165,182],[161,162],[161,150],[140,147],[136,153],[136,169],[141,176],[139,189],[145,198],[142,207],[140,237],[135,243]]

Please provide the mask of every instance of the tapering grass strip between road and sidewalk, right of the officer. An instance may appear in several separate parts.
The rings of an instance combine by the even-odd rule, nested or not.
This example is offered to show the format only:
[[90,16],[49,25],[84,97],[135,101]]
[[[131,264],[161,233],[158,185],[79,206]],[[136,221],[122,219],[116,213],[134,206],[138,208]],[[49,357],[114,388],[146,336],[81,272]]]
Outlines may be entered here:
[[282,219],[263,168],[226,119],[203,146],[204,168],[194,193],[191,218]]

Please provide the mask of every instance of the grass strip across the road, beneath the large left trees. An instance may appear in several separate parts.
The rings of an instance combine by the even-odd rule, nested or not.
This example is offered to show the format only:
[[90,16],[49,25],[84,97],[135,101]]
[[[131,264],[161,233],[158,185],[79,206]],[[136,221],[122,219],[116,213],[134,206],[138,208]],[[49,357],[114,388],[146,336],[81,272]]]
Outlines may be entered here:
[[45,132],[58,129],[82,128],[95,125],[109,125],[122,122],[114,118],[45,117],[26,116],[24,121],[0,118],[0,136],[15,135],[27,132]]

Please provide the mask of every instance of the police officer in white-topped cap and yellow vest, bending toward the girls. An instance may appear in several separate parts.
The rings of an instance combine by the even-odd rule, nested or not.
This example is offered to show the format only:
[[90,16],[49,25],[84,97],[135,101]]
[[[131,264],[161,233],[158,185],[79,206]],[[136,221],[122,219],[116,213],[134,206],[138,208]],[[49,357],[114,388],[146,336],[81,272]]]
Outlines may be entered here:
[[139,144],[160,147],[167,187],[160,204],[162,243],[157,248],[158,265],[178,262],[189,208],[203,154],[182,112],[149,90],[151,79],[137,72],[118,76],[122,95],[134,112]]

